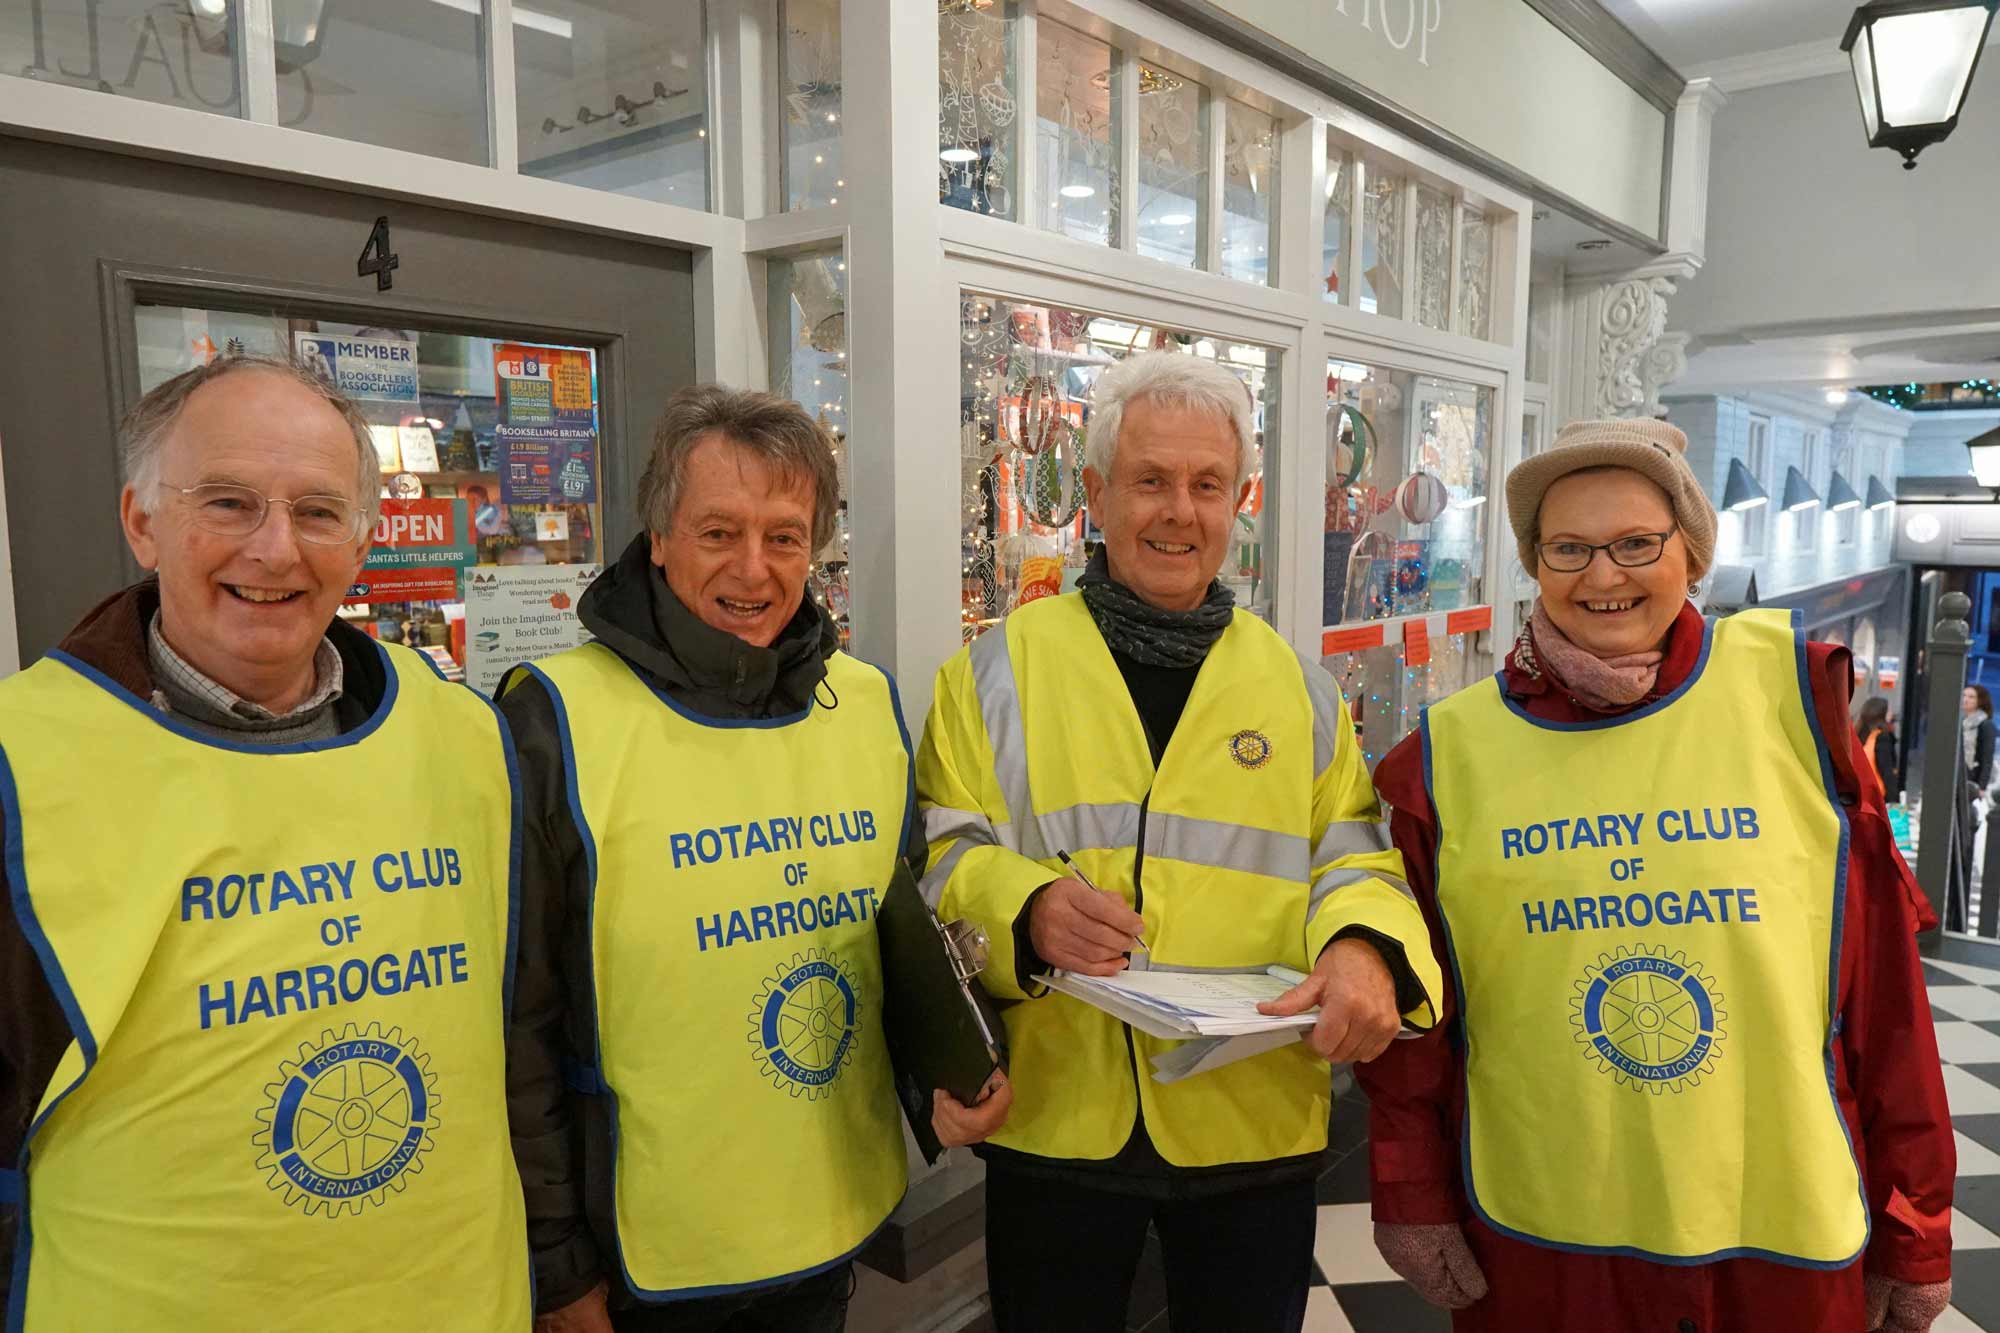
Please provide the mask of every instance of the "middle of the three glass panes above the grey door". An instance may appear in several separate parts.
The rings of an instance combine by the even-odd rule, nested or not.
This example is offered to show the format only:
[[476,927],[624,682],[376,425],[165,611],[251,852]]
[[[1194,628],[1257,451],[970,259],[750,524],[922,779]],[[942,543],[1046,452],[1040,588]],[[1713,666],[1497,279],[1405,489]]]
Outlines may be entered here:
[[[428,158],[484,164],[482,8],[482,0],[272,4],[278,124]],[[568,20],[548,12],[516,10],[516,44],[534,32],[528,22],[570,28]],[[608,106],[604,110],[610,114]],[[522,158],[526,156],[528,138],[522,134]]]

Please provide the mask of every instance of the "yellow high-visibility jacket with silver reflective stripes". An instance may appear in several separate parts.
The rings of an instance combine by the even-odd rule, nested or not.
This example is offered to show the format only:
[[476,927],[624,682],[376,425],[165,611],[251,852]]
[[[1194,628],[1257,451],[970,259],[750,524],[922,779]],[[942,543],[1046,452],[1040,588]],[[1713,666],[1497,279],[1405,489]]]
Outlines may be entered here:
[[[938,675],[918,787],[926,895],[944,919],[986,929],[982,981],[1000,995],[1020,995],[1014,919],[1068,873],[1058,851],[1146,921],[1134,967],[1310,969],[1340,929],[1362,925],[1402,943],[1426,993],[1440,993],[1340,691],[1244,610],[1208,650],[1158,769],[1082,596],[1014,610]],[[1428,1025],[1428,1003],[1410,1017]],[[1106,1159],[1140,1109],[1180,1167],[1326,1147],[1332,1085],[1304,1043],[1156,1083],[1152,1057],[1178,1043],[1068,995],[1004,1019],[1014,1109],[992,1137],[1000,1147]]]

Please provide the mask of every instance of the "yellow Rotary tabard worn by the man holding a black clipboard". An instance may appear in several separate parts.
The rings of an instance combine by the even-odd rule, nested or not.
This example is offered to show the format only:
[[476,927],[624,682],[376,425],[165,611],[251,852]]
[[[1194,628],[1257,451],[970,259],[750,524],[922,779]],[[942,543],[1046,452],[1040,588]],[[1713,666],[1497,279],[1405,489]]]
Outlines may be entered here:
[[602,644],[528,671],[592,867],[626,1285],[670,1301],[848,1259],[906,1183],[874,925],[910,809],[894,685],[836,652],[832,707],[722,723]]

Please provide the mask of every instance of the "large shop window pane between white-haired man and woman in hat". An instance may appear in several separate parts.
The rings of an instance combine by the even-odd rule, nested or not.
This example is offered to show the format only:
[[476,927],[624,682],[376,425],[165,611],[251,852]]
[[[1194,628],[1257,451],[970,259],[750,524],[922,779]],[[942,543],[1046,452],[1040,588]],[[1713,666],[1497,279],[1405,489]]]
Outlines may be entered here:
[[1326,386],[1322,642],[1374,763],[1478,671],[1494,390],[1340,360]]

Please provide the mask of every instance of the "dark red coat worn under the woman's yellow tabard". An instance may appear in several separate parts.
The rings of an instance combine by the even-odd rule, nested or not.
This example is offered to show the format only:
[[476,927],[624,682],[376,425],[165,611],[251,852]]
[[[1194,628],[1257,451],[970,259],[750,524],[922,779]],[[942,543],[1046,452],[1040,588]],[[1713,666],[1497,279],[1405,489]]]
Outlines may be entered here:
[[[1686,681],[1700,646],[1702,616],[1688,606],[1668,632],[1656,697]],[[1848,650],[1814,642],[1808,658],[1812,705],[1852,827],[1834,1075],[1868,1187],[1868,1251],[1836,1271],[1762,1259],[1682,1267],[1546,1249],[1484,1227],[1466,1209],[1458,1169],[1464,1067],[1450,1035],[1456,995],[1446,971],[1446,1023],[1428,1037],[1398,1041],[1382,1059],[1358,1065],[1356,1075],[1370,1099],[1376,1221],[1464,1223],[1486,1271],[1492,1293],[1454,1317],[1458,1333],[1848,1333],[1866,1327],[1864,1267],[1910,1283],[1950,1277],[1956,1149],[1914,939],[1930,913],[1896,853],[1880,783],[1872,773],[1860,777],[1866,763],[1848,723]],[[1520,671],[1512,656],[1504,687],[1540,719],[1600,717],[1548,679]],[[1436,813],[1424,791],[1422,737],[1404,737],[1382,759],[1376,789],[1394,807],[1390,829],[1442,959]],[[1550,1133],[1560,1133],[1554,1117]],[[1588,1199],[1578,1207],[1588,1209]]]

